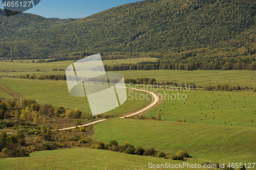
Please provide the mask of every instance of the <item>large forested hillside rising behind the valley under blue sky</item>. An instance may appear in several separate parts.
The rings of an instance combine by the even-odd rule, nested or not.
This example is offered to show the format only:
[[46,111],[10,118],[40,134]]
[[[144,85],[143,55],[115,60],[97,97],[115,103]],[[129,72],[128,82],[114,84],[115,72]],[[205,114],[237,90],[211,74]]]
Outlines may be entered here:
[[0,16],[0,58],[100,52],[106,59],[149,56],[189,63],[225,58],[253,63],[255,14],[256,2],[251,0],[148,0],[66,23],[26,13]]

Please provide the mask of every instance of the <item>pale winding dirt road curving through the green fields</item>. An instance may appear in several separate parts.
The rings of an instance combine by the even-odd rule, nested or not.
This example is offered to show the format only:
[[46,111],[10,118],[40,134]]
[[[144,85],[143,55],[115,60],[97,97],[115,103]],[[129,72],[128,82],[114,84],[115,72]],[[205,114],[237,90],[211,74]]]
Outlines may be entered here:
[[[124,88],[127,88],[127,89],[134,89],[134,88],[128,88],[128,87],[124,87]],[[151,91],[146,91],[146,90],[142,90],[142,89],[134,89],[134,90],[139,90],[139,91],[144,91],[144,92],[150,93],[151,95],[153,95],[154,101],[153,101],[150,105],[148,105],[147,107],[145,107],[145,108],[143,108],[143,109],[141,109],[141,110],[139,110],[139,111],[137,111],[137,112],[135,112],[135,113],[129,114],[129,115],[127,115],[127,116],[122,116],[122,117],[119,117],[119,118],[130,117],[130,116],[134,116],[134,115],[136,115],[136,114],[139,114],[139,113],[141,113],[141,112],[143,112],[143,111],[145,111],[145,110],[150,109],[150,108],[153,107],[155,104],[157,104],[157,102],[159,101],[158,96],[157,96],[155,93],[151,92]],[[89,125],[93,125],[93,124],[96,124],[96,123],[99,123],[99,122],[103,122],[104,120],[107,120],[107,119],[97,120],[97,121],[95,121],[95,122],[91,122],[91,123],[89,123],[89,124],[84,124],[84,125],[80,125],[80,126],[89,126]],[[78,127],[80,127],[80,126],[78,126]],[[74,126],[74,127],[70,127],[70,128],[58,129],[58,130],[68,130],[68,129],[74,129],[74,128],[75,128],[75,126]]]

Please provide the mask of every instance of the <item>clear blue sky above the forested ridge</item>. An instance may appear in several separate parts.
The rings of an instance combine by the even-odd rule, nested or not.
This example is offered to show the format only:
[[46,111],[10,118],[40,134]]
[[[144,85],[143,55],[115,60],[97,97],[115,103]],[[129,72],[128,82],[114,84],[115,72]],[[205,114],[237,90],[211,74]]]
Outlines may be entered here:
[[[138,0],[41,0],[39,4],[25,13],[46,18],[83,18],[106,9],[134,2],[138,2]],[[4,9],[2,3],[0,3],[0,8]]]

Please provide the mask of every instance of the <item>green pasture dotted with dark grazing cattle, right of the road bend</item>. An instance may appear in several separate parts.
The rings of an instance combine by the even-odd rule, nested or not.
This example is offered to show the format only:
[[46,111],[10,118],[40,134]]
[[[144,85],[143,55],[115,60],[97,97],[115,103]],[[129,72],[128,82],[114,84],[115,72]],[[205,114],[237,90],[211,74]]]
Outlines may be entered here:
[[[162,119],[173,122],[185,117],[186,122],[196,124],[228,126],[232,124],[232,126],[256,128],[256,114],[253,114],[256,111],[254,105],[256,93],[252,91],[214,91],[212,93],[205,90],[180,92],[179,90],[162,90],[159,93],[165,96],[163,102],[145,115],[157,117],[158,113],[163,113]],[[178,93],[180,99],[183,95],[187,100],[178,100]]]

